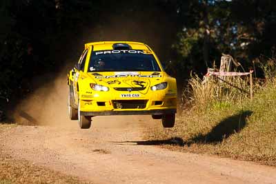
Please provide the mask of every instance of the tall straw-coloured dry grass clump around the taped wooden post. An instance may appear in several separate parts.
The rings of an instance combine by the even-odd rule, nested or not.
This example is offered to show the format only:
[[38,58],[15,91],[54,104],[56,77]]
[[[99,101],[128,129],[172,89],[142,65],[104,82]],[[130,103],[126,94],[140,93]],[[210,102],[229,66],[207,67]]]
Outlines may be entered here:
[[194,76],[188,81],[188,88],[184,92],[186,103],[198,110],[225,108],[249,97],[250,83],[248,77],[244,76],[227,76],[224,79],[209,76],[204,81]]

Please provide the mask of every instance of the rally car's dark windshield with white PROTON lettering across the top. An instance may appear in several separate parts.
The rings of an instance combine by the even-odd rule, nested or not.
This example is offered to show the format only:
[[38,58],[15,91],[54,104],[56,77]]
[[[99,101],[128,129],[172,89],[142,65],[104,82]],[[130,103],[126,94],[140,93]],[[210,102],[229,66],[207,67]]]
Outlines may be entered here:
[[101,50],[90,57],[88,72],[160,72],[155,57],[143,50]]

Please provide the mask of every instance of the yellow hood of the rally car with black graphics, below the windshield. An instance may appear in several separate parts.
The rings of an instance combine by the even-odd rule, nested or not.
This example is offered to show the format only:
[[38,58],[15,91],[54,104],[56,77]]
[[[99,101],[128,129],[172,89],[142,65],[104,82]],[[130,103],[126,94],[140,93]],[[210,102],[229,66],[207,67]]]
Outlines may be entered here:
[[148,90],[150,86],[161,83],[163,72],[93,72],[88,77],[100,85],[115,90]]

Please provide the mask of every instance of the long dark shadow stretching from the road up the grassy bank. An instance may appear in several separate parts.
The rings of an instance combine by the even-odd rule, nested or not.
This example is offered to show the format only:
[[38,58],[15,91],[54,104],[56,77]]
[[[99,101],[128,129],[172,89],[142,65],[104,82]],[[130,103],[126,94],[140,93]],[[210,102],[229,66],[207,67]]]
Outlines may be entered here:
[[227,139],[232,134],[239,133],[245,126],[248,116],[252,111],[241,111],[233,116],[219,122],[213,129],[207,134],[199,134],[187,141],[184,141],[180,137],[173,137],[166,140],[151,140],[151,141],[124,141],[124,142],[112,142],[117,144],[136,143],[136,145],[191,145],[193,143],[203,144],[217,144],[221,143],[224,139]]

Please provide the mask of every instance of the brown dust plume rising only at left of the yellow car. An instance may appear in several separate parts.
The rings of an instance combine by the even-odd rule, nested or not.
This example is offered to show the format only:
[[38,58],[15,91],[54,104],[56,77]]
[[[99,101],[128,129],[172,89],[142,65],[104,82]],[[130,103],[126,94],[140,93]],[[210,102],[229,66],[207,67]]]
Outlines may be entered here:
[[23,99],[14,110],[15,122],[22,125],[72,124],[68,119],[66,76],[66,72],[61,72],[54,81],[44,84]]

